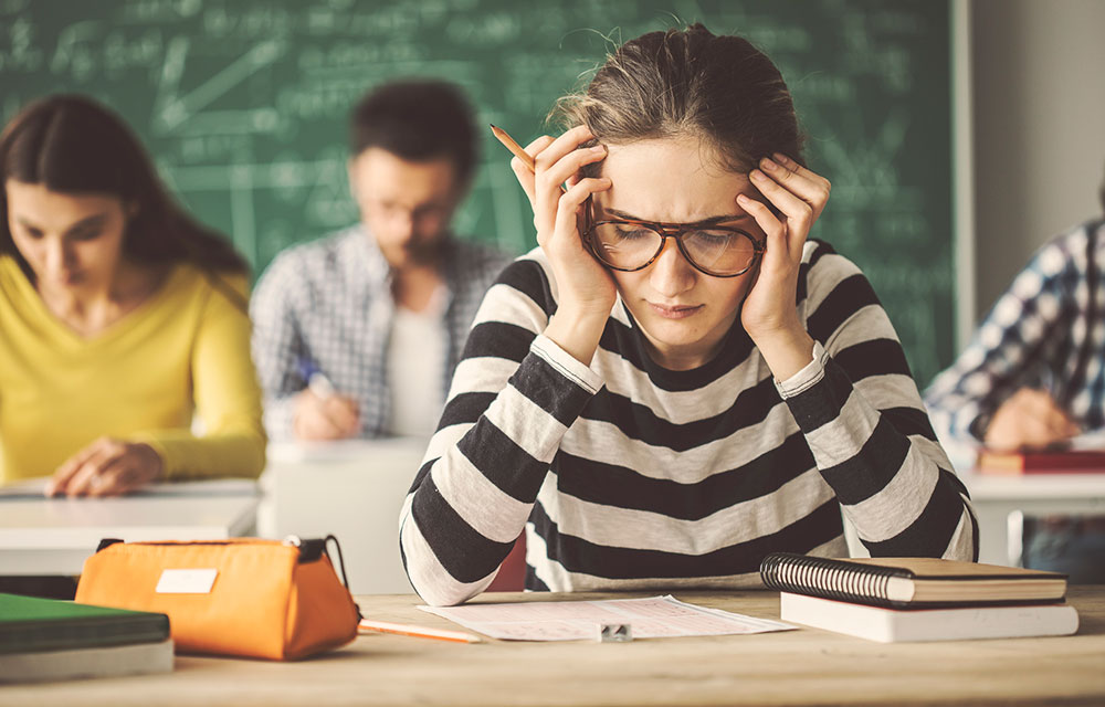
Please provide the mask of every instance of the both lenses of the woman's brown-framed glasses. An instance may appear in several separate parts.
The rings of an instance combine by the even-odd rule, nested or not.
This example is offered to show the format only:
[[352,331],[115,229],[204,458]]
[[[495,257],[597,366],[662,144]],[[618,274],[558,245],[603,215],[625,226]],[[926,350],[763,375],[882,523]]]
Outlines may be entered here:
[[[597,223],[591,229],[591,239],[603,262],[623,270],[643,267],[664,243],[659,232],[635,223]],[[745,271],[756,260],[753,240],[736,231],[684,231],[681,239],[683,252],[694,265],[718,275]]]

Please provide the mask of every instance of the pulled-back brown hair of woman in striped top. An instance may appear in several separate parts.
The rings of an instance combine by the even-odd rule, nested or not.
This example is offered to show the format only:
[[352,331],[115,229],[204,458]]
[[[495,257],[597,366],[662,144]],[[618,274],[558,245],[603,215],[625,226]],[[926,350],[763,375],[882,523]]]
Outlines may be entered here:
[[587,92],[560,98],[550,119],[587,125],[602,143],[694,135],[732,171],[782,152],[802,162],[794,105],[771,60],[739,36],[699,23],[642,34],[618,48]]

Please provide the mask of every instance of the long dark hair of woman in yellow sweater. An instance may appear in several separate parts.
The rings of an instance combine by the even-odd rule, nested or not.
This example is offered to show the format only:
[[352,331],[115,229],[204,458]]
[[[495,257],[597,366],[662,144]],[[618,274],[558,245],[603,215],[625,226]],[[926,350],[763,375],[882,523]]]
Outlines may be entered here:
[[[124,254],[139,263],[189,261],[209,273],[248,273],[225,238],[192,219],[169,196],[141,144],[127,125],[95,101],[55,95],[23,108],[0,133],[0,176],[51,191],[108,193],[135,214],[123,238]],[[0,253],[28,264],[8,226],[8,197],[0,189]]]

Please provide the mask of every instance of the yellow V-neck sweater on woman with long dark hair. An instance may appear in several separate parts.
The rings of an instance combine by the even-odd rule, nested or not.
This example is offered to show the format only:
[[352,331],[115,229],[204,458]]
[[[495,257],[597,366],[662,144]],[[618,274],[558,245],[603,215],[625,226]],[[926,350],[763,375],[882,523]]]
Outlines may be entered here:
[[83,338],[0,255],[0,484],[53,474],[103,435],[150,444],[168,478],[256,477],[261,390],[249,316],[228,294],[244,302],[246,283],[223,282],[177,265],[137,309]]

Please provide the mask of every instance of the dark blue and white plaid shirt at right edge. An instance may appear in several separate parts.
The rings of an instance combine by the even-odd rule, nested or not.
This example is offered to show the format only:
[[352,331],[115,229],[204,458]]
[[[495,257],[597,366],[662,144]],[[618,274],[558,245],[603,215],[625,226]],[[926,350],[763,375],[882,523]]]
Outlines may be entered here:
[[1025,387],[1048,390],[1085,430],[1105,425],[1103,270],[1102,221],[1036,252],[959,359],[926,391],[941,440],[982,440],[998,407]]

